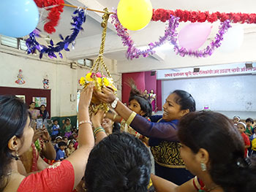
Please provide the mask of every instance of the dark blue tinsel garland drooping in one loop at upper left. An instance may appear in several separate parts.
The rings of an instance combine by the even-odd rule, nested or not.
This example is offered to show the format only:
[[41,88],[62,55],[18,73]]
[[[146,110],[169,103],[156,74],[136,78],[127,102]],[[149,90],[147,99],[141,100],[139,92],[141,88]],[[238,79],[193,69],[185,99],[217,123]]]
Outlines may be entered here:
[[31,34],[29,34],[29,39],[26,39],[26,47],[28,47],[26,52],[28,54],[33,54],[36,50],[38,50],[40,53],[39,58],[42,58],[43,54],[47,54],[49,58],[57,58],[55,53],[59,53],[59,57],[63,58],[60,51],[69,51],[69,44],[72,44],[72,46],[74,46],[75,38],[78,37],[80,30],[83,30],[82,25],[86,22],[86,14],[83,9],[77,9],[75,10],[75,12],[73,12],[73,14],[78,15],[75,17],[72,16],[73,23],[71,23],[71,25],[73,27],[73,32],[70,36],[67,36],[64,39],[64,37],[62,37],[62,35],[59,34],[59,37],[62,41],[58,42],[55,46],[53,44],[53,40],[51,39],[50,45],[48,45],[47,47],[45,45],[40,45],[39,42],[37,42],[36,37],[40,37],[39,31],[34,30],[33,32],[31,32]]

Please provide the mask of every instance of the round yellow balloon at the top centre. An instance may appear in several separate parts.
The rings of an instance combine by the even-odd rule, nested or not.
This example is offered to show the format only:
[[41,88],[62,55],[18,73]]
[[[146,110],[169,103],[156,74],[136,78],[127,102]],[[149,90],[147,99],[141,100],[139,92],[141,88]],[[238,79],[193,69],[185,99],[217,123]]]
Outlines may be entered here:
[[153,15],[150,0],[120,0],[117,7],[118,20],[125,28],[137,31],[148,25]]

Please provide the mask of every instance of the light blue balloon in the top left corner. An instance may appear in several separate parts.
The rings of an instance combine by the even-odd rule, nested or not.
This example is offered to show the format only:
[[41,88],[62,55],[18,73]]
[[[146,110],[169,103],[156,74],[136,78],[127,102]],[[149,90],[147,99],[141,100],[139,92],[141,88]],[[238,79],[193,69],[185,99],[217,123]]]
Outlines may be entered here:
[[39,12],[33,0],[0,0],[0,34],[24,37],[37,27]]

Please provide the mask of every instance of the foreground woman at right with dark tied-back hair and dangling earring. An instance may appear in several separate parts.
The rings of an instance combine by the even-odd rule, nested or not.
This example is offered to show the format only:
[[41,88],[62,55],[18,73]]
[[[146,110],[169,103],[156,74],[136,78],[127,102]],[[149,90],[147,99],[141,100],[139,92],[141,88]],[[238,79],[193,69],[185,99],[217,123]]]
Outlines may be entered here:
[[244,158],[244,140],[225,115],[192,112],[178,125],[181,158],[196,176],[183,185],[151,175],[161,192],[256,191],[255,158]]

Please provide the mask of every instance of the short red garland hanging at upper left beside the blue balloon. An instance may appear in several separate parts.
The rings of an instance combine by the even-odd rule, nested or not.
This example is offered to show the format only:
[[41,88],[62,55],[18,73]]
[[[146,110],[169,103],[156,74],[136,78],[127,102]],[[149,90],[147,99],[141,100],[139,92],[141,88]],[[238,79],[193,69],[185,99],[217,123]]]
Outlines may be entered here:
[[[61,12],[63,12],[63,5],[64,0],[34,0],[34,2],[37,4],[37,7],[45,7],[47,10],[50,10],[48,13],[48,23],[45,23],[44,30],[48,32],[48,34],[52,34],[56,31],[55,27],[58,25]],[[47,7],[58,5],[57,7],[53,7],[51,9],[48,9]]]

